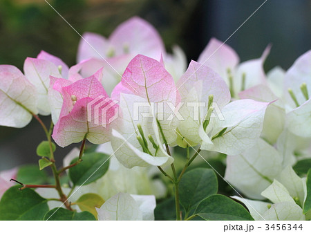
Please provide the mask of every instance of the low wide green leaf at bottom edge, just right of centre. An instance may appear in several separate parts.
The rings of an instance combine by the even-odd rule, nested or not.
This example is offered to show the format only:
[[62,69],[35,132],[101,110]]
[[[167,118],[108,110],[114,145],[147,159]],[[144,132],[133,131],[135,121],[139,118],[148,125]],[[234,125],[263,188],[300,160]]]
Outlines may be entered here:
[[220,194],[205,198],[198,205],[196,214],[205,220],[254,220],[243,205]]

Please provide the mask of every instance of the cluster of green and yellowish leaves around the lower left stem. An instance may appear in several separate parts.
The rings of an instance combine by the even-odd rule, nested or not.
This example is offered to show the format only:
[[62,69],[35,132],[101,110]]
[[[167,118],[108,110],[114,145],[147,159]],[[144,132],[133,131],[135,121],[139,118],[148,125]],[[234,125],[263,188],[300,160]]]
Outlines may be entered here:
[[[39,156],[49,156],[46,143],[42,142],[37,153]],[[39,165],[24,165],[17,172],[17,180],[27,185],[44,185],[52,180],[44,167],[49,166],[46,157],[39,160]],[[77,162],[75,158],[71,164]],[[104,153],[85,153],[83,161],[69,169],[69,178],[76,185],[87,185],[106,174],[109,167],[109,156]],[[64,176],[65,183],[68,179]],[[64,184],[63,184],[64,185]],[[20,190],[21,185],[8,189],[0,201],[0,220],[96,220],[96,207],[104,204],[104,199],[97,194],[84,194],[78,198],[76,203],[82,212],[70,211],[64,208],[49,209],[48,200],[35,192],[35,189],[26,188]],[[73,187],[73,188],[74,188]],[[59,198],[55,196],[55,198]],[[55,201],[53,199],[53,201]],[[59,202],[59,205],[61,202]]]

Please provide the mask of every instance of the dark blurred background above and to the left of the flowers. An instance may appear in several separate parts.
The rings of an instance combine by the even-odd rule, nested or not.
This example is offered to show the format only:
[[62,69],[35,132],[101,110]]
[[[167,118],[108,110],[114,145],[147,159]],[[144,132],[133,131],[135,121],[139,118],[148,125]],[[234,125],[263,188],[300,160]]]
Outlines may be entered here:
[[[160,32],[168,51],[178,44],[196,60],[211,37],[225,41],[263,0],[48,0],[79,33],[109,37],[117,25],[138,15]],[[228,41],[241,61],[272,51],[265,70],[288,69],[311,48],[311,1],[268,0]],[[44,0],[0,0],[0,64],[22,70],[26,57],[46,50],[72,66],[80,37]],[[1,111],[1,110],[0,110]],[[49,124],[49,117],[43,117]],[[24,129],[0,127],[0,170],[37,162],[35,150],[45,140],[39,124]],[[62,160],[72,147],[58,150]]]

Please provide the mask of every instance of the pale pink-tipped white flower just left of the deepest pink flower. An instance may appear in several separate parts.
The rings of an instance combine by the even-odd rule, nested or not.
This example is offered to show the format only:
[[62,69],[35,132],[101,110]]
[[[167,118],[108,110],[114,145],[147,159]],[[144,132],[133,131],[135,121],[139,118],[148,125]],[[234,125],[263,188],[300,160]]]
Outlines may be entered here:
[[28,57],[23,64],[25,76],[37,89],[37,109],[41,115],[51,112],[48,104],[50,75],[68,78],[68,66],[61,59],[41,51],[37,58]]

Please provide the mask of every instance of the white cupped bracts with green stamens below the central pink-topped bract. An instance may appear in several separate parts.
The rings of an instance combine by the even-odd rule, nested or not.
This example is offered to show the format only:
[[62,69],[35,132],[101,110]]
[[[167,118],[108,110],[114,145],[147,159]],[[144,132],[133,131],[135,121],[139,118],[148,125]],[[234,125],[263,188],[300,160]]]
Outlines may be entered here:
[[[113,122],[111,145],[114,155],[124,167],[162,166],[173,162],[160,140],[158,124],[154,115],[136,119],[135,103],[145,103],[144,108],[151,109],[147,100],[137,95],[120,95],[119,116]],[[137,109],[136,109],[137,110]],[[142,111],[140,111],[142,113]],[[144,112],[144,114],[148,114]]]

